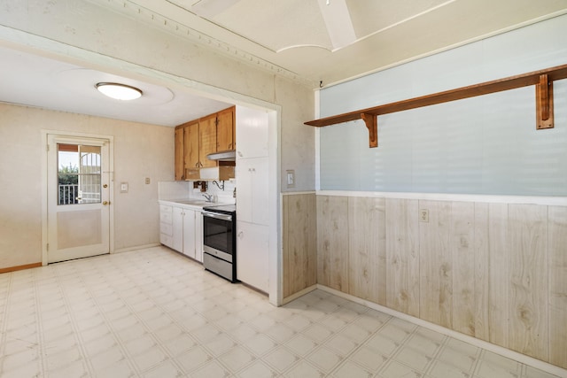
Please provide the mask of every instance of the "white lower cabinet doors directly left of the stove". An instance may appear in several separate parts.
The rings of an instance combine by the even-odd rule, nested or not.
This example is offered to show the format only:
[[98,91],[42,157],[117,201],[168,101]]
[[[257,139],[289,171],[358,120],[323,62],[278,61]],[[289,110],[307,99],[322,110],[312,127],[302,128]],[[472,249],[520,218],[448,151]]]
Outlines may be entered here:
[[172,207],[173,243],[170,247],[203,262],[203,215],[196,210]]

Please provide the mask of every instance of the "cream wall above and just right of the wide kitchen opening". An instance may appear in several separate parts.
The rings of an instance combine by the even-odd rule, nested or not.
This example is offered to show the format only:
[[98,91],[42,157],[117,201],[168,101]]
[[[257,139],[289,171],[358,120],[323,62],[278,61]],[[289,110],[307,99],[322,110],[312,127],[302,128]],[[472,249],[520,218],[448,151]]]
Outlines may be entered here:
[[[285,169],[295,169],[296,185],[293,190],[315,189],[315,128],[303,124],[313,119],[315,99],[313,90],[303,83],[276,76],[273,72],[259,69],[255,64],[245,64],[220,52],[206,50],[149,23],[112,12],[102,4],[104,2],[100,6],[85,0],[54,0],[42,6],[27,6],[27,2],[20,0],[7,0],[4,3],[0,25],[8,27],[8,30],[0,29],[0,40],[3,37],[17,38],[10,29],[43,35],[64,45],[94,51],[101,57],[118,58],[157,72],[190,79],[195,81],[196,88],[202,83],[281,105],[283,172]],[[28,43],[29,40],[24,38],[22,42]],[[58,58],[66,58],[75,64],[94,64],[90,58],[78,57],[77,61],[76,56],[71,56],[70,50],[60,45],[52,46],[49,41],[43,46],[33,47],[49,54],[55,53]],[[141,77],[140,73],[124,72],[120,62],[112,59],[99,60],[95,68],[110,69],[113,73],[123,75],[138,75],[138,79],[160,83],[159,75]],[[183,83],[180,87],[183,87]],[[284,186],[282,189],[287,190]]]

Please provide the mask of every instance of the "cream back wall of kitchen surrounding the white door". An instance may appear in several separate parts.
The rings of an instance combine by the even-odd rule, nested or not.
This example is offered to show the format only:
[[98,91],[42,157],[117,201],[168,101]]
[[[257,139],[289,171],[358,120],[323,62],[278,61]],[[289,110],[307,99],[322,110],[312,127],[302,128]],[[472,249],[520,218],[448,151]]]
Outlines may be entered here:
[[[158,181],[173,180],[174,129],[0,104],[0,268],[42,261],[42,129],[114,137],[114,248],[159,243]],[[151,184],[144,183],[150,177]]]

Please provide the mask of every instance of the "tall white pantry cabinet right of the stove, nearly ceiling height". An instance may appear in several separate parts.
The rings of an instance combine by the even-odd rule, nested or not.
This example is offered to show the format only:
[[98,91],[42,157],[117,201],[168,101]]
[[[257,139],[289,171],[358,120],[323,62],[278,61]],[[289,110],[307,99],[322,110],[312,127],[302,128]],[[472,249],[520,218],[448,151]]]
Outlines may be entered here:
[[237,278],[268,292],[268,113],[237,106]]

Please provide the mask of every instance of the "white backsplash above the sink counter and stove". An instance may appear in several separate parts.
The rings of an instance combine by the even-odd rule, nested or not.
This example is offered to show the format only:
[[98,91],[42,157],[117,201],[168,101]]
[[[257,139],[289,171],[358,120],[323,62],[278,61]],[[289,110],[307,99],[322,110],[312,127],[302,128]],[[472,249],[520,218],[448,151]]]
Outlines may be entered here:
[[[216,196],[217,201],[224,204],[234,204],[235,198],[232,192],[236,187],[236,181],[216,181],[222,186],[224,182],[224,190],[217,188],[213,181],[206,181],[206,193]],[[162,200],[203,200],[203,192],[200,189],[193,189],[193,181],[159,181],[158,182],[158,199]]]

